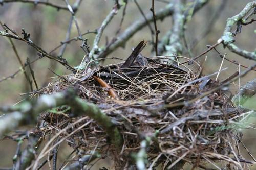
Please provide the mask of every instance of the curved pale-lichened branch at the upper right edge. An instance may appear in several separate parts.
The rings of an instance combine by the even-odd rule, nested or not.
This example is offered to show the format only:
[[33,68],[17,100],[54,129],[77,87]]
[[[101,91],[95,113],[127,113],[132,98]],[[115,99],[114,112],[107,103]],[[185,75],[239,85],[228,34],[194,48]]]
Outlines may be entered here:
[[[256,52],[248,52],[248,51],[242,50],[238,46],[234,45],[234,43],[233,43],[234,38],[233,38],[233,33],[232,33],[232,28],[234,26],[241,25],[240,27],[242,27],[242,25],[246,23],[246,19],[248,19],[248,17],[246,17],[246,15],[248,14],[248,12],[251,9],[253,9],[255,7],[256,7],[256,1],[252,1],[252,2],[248,3],[239,14],[237,14],[231,18],[228,18],[227,24],[226,24],[226,27],[225,27],[225,30],[223,32],[221,39],[223,40],[223,44],[226,47],[228,47],[228,49],[231,52],[236,53],[246,59],[256,61]],[[253,12],[253,13],[255,13],[255,12]],[[241,30],[239,29],[238,32],[240,32],[240,31]]]

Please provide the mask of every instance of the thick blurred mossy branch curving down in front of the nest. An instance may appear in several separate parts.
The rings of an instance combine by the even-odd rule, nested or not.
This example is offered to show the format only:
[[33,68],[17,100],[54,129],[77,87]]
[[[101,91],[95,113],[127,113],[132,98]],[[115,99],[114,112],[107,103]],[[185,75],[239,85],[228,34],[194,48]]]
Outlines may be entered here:
[[19,126],[36,122],[39,113],[62,105],[71,106],[75,116],[87,115],[94,119],[104,129],[106,134],[108,134],[116,149],[121,150],[123,143],[122,137],[111,118],[103,113],[97,105],[84,102],[75,96],[74,89],[52,95],[41,95],[35,103],[27,101],[20,104],[17,111],[0,119],[0,137],[3,137],[5,133]]

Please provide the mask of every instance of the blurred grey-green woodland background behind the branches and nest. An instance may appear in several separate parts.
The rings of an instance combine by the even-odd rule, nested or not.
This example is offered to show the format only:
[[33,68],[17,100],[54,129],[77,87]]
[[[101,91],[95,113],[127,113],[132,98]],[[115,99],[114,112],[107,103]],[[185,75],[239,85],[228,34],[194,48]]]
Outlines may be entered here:
[[[212,16],[214,16],[216,10],[219,9],[223,1],[226,1],[226,5],[218,11],[219,17],[217,18],[216,22],[214,22],[214,25],[211,26],[209,34],[206,36],[202,35],[202,33],[207,29],[208,23],[212,19]],[[58,0],[51,2],[65,6],[65,1]],[[212,45],[216,43],[223,33],[226,25],[226,19],[238,14],[248,2],[250,1],[212,0],[200,11],[198,11],[189,21],[185,33],[188,44],[193,43],[195,39],[201,39],[199,43],[197,43],[191,49],[193,56],[196,56],[205,51],[207,49],[206,45]],[[74,1],[70,1],[70,3],[72,4]],[[150,12],[150,0],[138,0],[138,3],[140,4],[140,7],[144,13]],[[156,1],[155,4],[156,11],[166,6],[166,3],[160,1]],[[113,5],[114,1],[110,0],[82,1],[76,14],[81,32],[85,33],[88,30],[93,31],[99,28],[105,16],[108,15],[112,9]],[[71,14],[68,11],[57,11],[55,8],[45,5],[35,6],[33,4],[15,2],[4,3],[4,5],[0,6],[0,20],[2,23],[6,23],[7,26],[9,26],[11,29],[14,29],[20,35],[22,28],[25,28],[26,32],[31,34],[31,40],[47,52],[51,51],[54,47],[58,46],[61,41],[65,40],[70,17]],[[140,17],[141,13],[139,12],[134,1],[129,1],[120,33],[122,33],[127,27],[131,25],[131,23]],[[107,40],[110,41],[113,37],[115,37],[115,33],[119,28],[121,18],[122,10],[117,13],[108,27],[106,27],[102,35],[100,45],[106,44]],[[166,17],[163,21],[157,21],[157,26],[160,30],[159,39],[161,40],[161,37],[166,33],[166,31],[172,28],[172,18]],[[154,27],[153,23],[152,27]],[[3,31],[2,28],[1,30]],[[256,30],[255,23],[243,27],[242,33],[236,36],[236,44],[248,51],[254,51],[256,47],[256,34],[254,30]],[[73,23],[71,29],[71,38],[76,36],[78,36],[78,34]],[[88,44],[92,45],[95,34],[87,34],[84,37],[88,39]],[[151,40],[151,32],[148,27],[144,27],[138,31],[129,41],[127,41],[125,48],[118,48],[108,57],[113,56],[126,59],[131,53],[131,48],[136,46],[141,40]],[[37,52],[28,44],[17,40],[13,40],[13,42],[17,47],[18,53],[22,58],[23,63],[26,62],[27,57],[30,59],[30,61],[38,58]],[[81,41],[72,41],[70,44],[68,44],[67,49],[62,56],[63,58],[67,59],[69,64],[72,66],[79,65],[84,56],[84,52],[80,48],[80,45]],[[222,54],[227,53],[226,57],[230,60],[236,60],[245,66],[250,66],[253,64],[253,61],[246,60],[236,54],[229,52],[227,49],[224,49],[222,45],[218,46],[217,49]],[[58,53],[59,50],[55,51],[53,54],[57,55]],[[142,54],[144,56],[154,56],[154,52],[152,52],[152,46],[147,45],[142,51]],[[186,53],[184,53],[184,55],[188,57]],[[207,53],[207,61],[205,63],[203,74],[207,75],[218,71],[221,61],[222,59],[215,51]],[[111,64],[110,62],[113,62],[113,60],[106,60],[105,63],[101,64]],[[19,67],[19,62],[15,56],[15,53],[13,52],[8,38],[0,36],[0,79],[14,74],[14,72],[17,71]],[[39,87],[46,86],[49,82],[54,80],[52,77],[55,75],[49,71],[48,68],[51,68],[59,75],[72,73],[61,64],[52,62],[46,57],[33,63],[32,67]],[[223,68],[224,67],[228,67],[228,69],[221,72],[219,78],[220,80],[229,77],[233,74],[234,71],[238,70],[238,65],[234,65],[228,61],[224,61]],[[244,70],[244,68],[241,68],[241,70]],[[243,85],[254,78],[256,78],[255,71],[250,71],[250,73],[241,80],[241,84]],[[238,89],[238,82],[235,82],[230,86],[230,90],[233,93],[236,93]],[[15,104],[23,99],[23,96],[19,95],[20,93],[29,91],[30,89],[24,74],[19,73],[13,79],[2,81],[0,82],[0,105],[3,106]],[[249,107],[253,106],[250,105]],[[244,143],[251,151],[251,154],[256,157],[256,145],[254,142],[256,138],[256,131],[251,129],[243,131],[245,131],[243,137]],[[15,142],[11,140],[0,141],[0,168],[11,167],[12,156],[15,154],[15,150]],[[69,149],[66,151],[61,151],[61,153],[58,154],[59,159],[65,158],[69,152]],[[246,152],[244,152],[243,156],[246,159],[251,160]],[[111,168],[111,166],[111,164],[105,165],[107,168]],[[254,167],[254,169],[256,169],[256,167]]]

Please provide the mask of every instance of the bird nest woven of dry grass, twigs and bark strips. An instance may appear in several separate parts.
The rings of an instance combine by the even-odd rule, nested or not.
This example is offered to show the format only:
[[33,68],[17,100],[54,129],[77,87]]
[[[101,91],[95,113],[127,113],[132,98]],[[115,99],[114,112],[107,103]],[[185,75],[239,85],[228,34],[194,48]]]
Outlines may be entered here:
[[96,104],[120,131],[120,152],[94,119],[86,113],[72,117],[68,106],[41,114],[45,122],[41,130],[58,134],[56,141],[66,140],[80,156],[99,153],[99,159],[110,157],[119,162],[116,168],[127,162],[138,167],[140,160],[153,169],[177,168],[184,162],[206,168],[207,163],[219,161],[231,168],[246,162],[234,151],[241,141],[238,122],[242,113],[225,89],[209,92],[219,83],[202,76],[196,62],[176,66],[154,59],[147,58],[144,66],[88,68],[87,73],[59,76],[46,88],[45,93],[54,93],[74,86],[80,98]]

